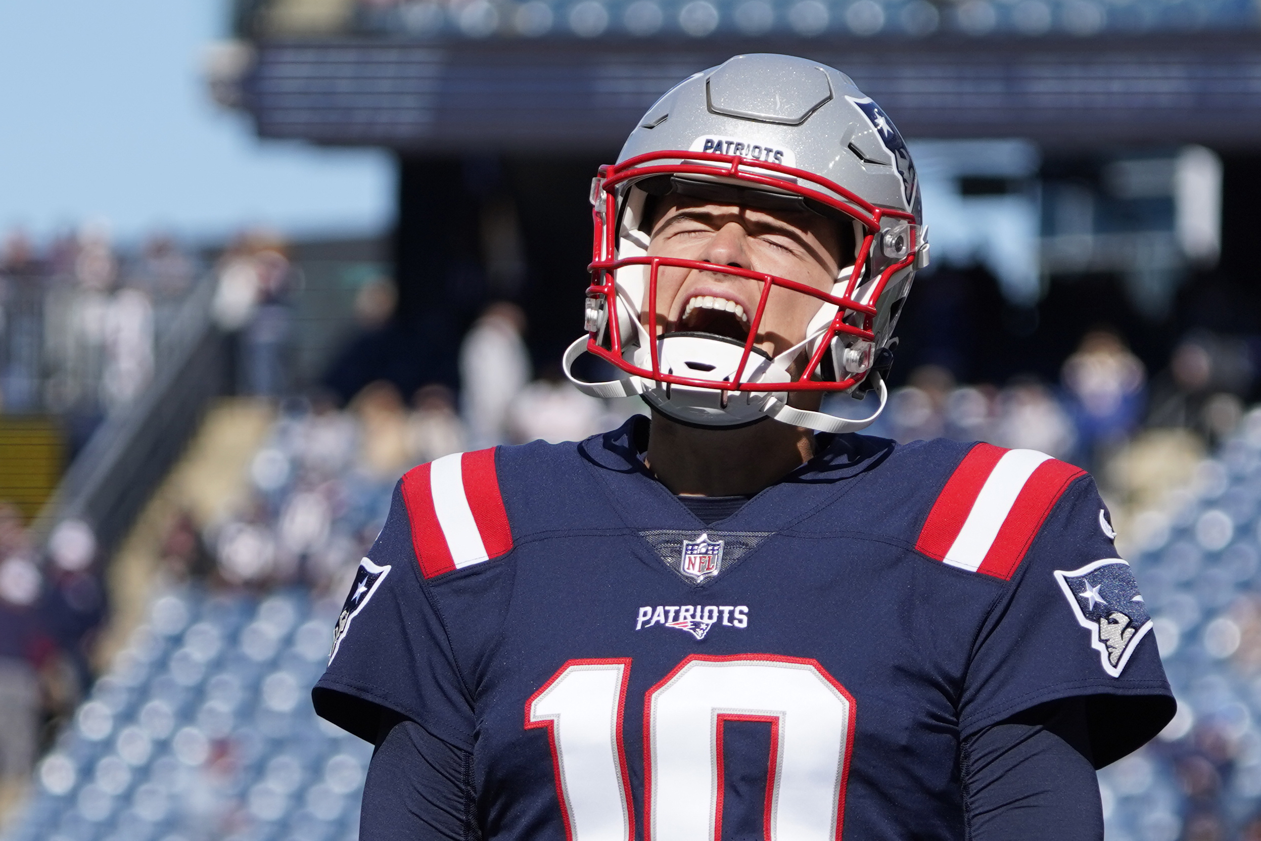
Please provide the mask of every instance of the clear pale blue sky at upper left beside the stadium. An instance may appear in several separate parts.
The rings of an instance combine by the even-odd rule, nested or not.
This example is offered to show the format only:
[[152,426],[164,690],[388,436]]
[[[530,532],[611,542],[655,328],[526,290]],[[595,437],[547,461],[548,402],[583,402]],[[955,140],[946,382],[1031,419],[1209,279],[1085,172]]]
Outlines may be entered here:
[[0,232],[387,226],[388,155],[261,141],[209,100],[202,57],[227,14],[228,0],[0,0]]

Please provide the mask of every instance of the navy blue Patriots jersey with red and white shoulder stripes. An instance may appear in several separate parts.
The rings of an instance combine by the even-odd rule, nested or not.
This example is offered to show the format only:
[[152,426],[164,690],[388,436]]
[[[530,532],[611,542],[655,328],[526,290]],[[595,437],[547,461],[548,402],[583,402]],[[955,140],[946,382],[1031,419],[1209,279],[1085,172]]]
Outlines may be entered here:
[[1173,712],[1082,470],[822,436],[704,525],[644,419],[400,482],[314,696],[465,751],[484,838],[957,838],[961,744],[1087,697],[1106,764]]

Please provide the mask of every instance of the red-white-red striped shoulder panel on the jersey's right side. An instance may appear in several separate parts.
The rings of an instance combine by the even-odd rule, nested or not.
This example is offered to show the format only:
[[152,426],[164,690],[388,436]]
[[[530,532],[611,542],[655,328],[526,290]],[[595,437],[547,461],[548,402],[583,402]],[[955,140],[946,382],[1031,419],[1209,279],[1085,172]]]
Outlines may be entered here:
[[939,449],[957,458],[928,483],[915,548],[957,569],[1011,580],[1074,483],[1098,499],[1086,470],[1045,453],[982,443]]

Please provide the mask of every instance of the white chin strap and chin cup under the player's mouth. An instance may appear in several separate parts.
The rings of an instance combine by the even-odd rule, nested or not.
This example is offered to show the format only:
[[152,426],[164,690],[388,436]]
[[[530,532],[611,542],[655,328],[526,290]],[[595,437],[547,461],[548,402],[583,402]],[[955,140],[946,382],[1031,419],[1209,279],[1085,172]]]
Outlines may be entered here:
[[[686,339],[686,344],[682,339]],[[876,378],[875,382],[876,388],[879,388],[880,392],[880,405],[876,407],[875,412],[861,420],[850,420],[847,417],[837,417],[836,415],[828,415],[826,412],[796,409],[788,405],[788,395],[782,391],[721,392],[714,388],[695,388],[687,386],[667,387],[666,383],[661,383],[654,380],[646,380],[644,377],[636,377],[624,373],[617,380],[608,380],[605,382],[585,382],[575,378],[571,373],[571,368],[574,367],[574,362],[578,357],[586,352],[586,340],[588,337],[584,335],[570,344],[569,348],[565,349],[565,356],[561,363],[565,376],[578,387],[579,391],[591,395],[593,397],[605,398],[633,397],[636,395],[642,395],[649,406],[662,411],[665,415],[690,424],[697,424],[700,426],[723,429],[725,426],[743,425],[750,420],[758,420],[759,417],[773,417],[774,420],[791,426],[805,426],[806,429],[812,429],[820,432],[857,432],[859,430],[864,430],[875,422],[875,419],[884,411],[884,406],[889,400],[889,392],[885,388],[884,380],[879,373],[873,373],[871,376]],[[665,337],[657,340],[658,358],[661,359],[662,369],[671,369],[668,361],[670,358],[677,356],[676,347],[689,351],[707,348],[710,353],[705,354],[706,358],[716,363],[716,367],[714,367],[710,372],[686,369],[676,373],[694,380],[712,380],[715,382],[721,382],[723,377],[719,374],[723,373],[724,367],[730,367],[729,363],[733,356],[734,345],[719,339],[704,339],[700,337]],[[634,356],[647,356],[647,353],[642,349],[628,351],[628,353],[633,353]],[[735,356],[739,356],[739,353]],[[787,354],[781,354],[779,358]],[[651,367],[651,363],[648,363],[647,359],[632,359],[632,362],[642,368]],[[723,362],[728,362],[728,366],[723,366]],[[686,364],[686,362],[683,364]],[[749,366],[753,367],[753,373],[744,377],[745,382],[788,382],[787,372],[779,363],[778,358],[776,361],[768,361],[762,357],[750,356]]]

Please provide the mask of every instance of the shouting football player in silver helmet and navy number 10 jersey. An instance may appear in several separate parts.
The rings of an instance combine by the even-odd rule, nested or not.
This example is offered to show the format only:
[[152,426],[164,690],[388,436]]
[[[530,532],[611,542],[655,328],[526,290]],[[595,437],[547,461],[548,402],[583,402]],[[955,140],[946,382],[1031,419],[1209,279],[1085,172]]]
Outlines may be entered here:
[[1102,838],[1095,769],[1174,702],[1095,483],[823,411],[883,407],[928,258],[888,116],[739,55],[591,202],[565,367],[651,420],[398,483],[314,690],[376,745],[361,837]]

